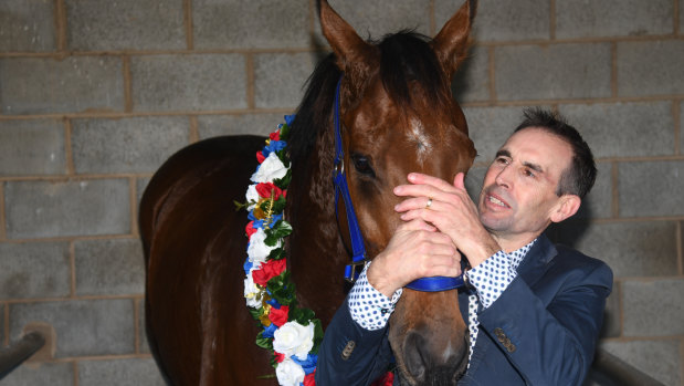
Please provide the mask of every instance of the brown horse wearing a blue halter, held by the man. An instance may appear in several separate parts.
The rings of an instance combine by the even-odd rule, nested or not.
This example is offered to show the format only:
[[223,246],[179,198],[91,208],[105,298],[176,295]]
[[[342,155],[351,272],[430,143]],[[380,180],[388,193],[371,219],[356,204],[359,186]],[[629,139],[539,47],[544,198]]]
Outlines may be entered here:
[[[319,3],[334,53],[309,79],[292,125],[285,217],[294,228],[286,250],[297,300],[324,326],[345,298],[349,262],[344,209],[338,223],[333,199],[336,83],[344,73],[344,165],[372,258],[400,222],[392,188],[409,171],[451,180],[472,165],[475,150],[450,84],[466,52],[475,3],[466,1],[431,41],[400,32],[377,44],[360,39],[325,0]],[[143,197],[148,340],[173,385],[275,384],[271,354],[254,344],[259,330],[243,299],[248,220],[233,206],[244,200],[263,139],[217,137],[191,145],[166,161]],[[404,383],[431,383],[435,374],[455,383],[467,357],[455,290],[406,290],[390,325]]]

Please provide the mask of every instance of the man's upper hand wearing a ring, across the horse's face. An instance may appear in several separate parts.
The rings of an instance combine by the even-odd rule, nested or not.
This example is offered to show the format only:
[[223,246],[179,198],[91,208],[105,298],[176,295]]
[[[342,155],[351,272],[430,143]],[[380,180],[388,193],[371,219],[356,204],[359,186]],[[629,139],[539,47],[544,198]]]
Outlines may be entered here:
[[471,267],[476,267],[501,247],[480,222],[477,208],[465,190],[463,178],[464,174],[459,173],[452,186],[436,177],[411,173],[408,177],[411,185],[394,188],[397,196],[410,198],[397,205],[394,210],[402,212],[404,221],[421,219],[436,227],[466,255]]

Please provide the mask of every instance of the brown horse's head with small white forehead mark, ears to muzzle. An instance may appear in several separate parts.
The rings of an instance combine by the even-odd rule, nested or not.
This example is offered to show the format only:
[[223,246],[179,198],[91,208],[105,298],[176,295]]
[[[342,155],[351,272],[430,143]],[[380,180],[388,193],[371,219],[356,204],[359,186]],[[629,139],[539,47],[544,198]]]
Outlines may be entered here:
[[[466,1],[432,41],[401,32],[372,44],[320,1],[323,32],[344,72],[344,163],[370,257],[400,222],[392,189],[406,184],[408,173],[452,181],[472,165],[475,149],[450,85],[466,52],[475,4]],[[404,290],[390,322],[401,376],[411,385],[454,384],[467,361],[466,336],[455,290]]]

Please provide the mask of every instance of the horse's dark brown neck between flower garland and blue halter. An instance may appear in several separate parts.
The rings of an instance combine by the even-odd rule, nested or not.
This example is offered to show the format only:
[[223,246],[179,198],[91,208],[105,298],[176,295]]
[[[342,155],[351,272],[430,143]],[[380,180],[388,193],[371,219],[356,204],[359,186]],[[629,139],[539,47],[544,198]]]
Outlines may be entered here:
[[323,133],[308,159],[293,165],[286,216],[290,237],[288,265],[303,306],[311,307],[327,325],[344,300],[344,265],[348,255],[335,217],[333,163],[335,144],[330,129]]

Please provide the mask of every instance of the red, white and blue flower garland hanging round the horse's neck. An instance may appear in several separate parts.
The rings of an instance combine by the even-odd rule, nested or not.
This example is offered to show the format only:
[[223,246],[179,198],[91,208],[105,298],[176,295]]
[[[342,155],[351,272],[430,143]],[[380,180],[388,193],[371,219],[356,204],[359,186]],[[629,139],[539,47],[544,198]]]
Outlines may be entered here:
[[263,328],[256,345],[273,353],[271,364],[280,385],[313,386],[323,328],[312,310],[297,306],[284,250],[284,238],[292,233],[283,210],[292,176],[285,148],[293,119],[294,115],[285,116],[285,124],[256,153],[260,165],[251,177],[254,184],[248,188],[246,204],[235,205],[250,211],[244,298]]

